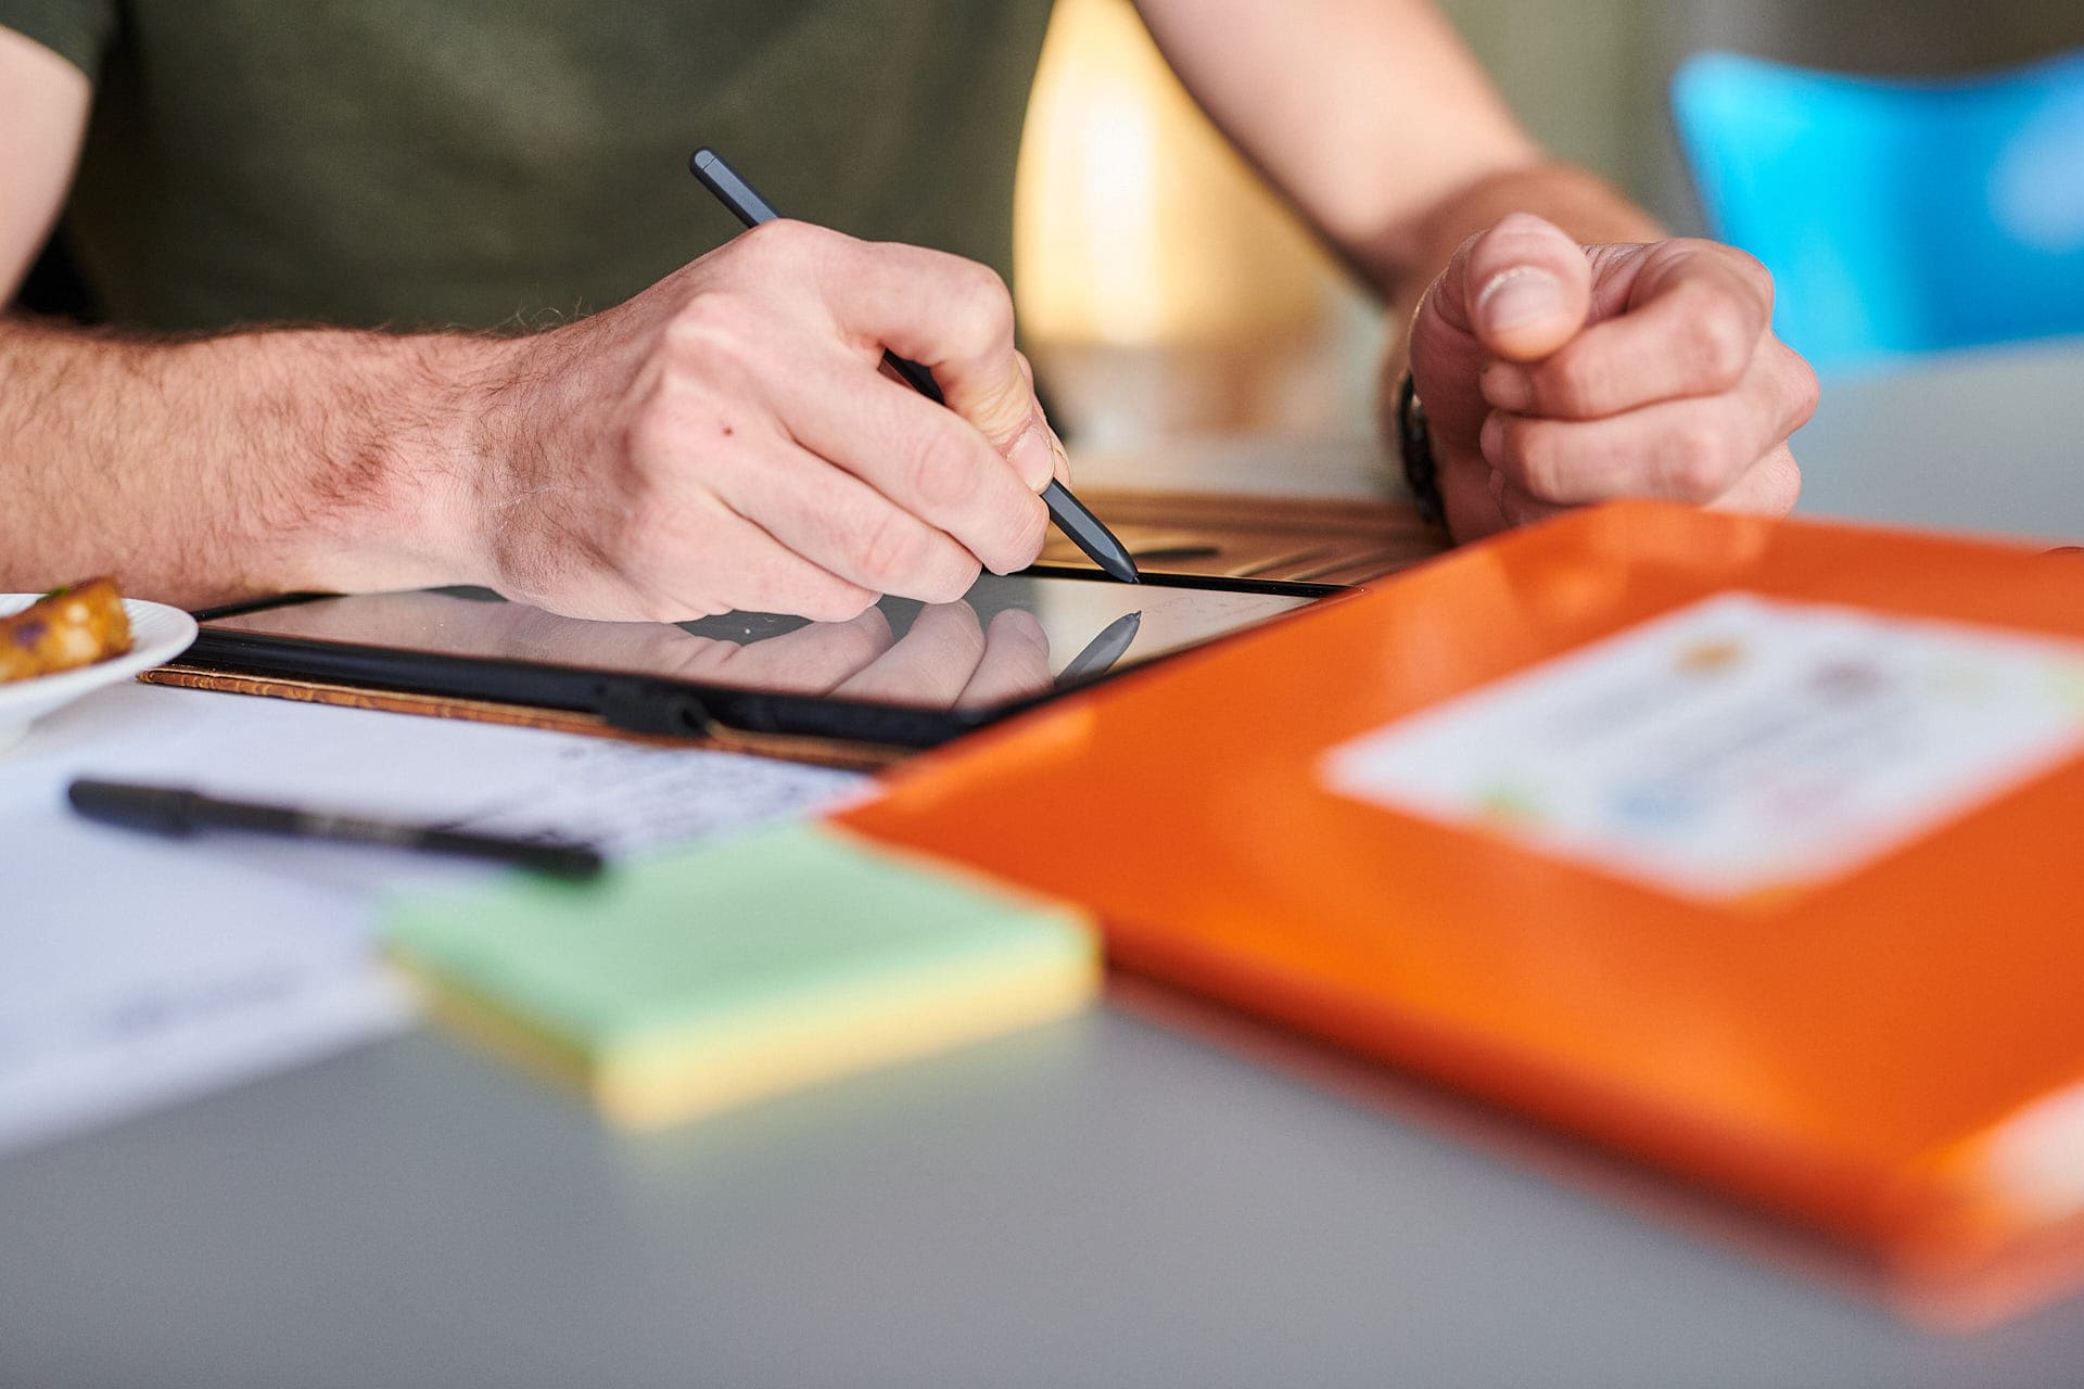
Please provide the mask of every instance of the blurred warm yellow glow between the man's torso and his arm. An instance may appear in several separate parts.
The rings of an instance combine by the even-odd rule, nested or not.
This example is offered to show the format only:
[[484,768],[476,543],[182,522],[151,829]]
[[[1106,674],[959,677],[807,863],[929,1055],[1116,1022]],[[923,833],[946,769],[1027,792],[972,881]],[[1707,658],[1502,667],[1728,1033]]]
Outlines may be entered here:
[[[1092,412],[1082,394],[1130,389],[1161,429],[1280,416],[1265,392],[1298,354],[1330,350],[1342,294],[1336,262],[1215,133],[1130,0],[1057,2],[1013,260],[1023,335],[1073,414]],[[1123,362],[1150,354],[1161,371]],[[1240,394],[1252,381],[1269,385]]]

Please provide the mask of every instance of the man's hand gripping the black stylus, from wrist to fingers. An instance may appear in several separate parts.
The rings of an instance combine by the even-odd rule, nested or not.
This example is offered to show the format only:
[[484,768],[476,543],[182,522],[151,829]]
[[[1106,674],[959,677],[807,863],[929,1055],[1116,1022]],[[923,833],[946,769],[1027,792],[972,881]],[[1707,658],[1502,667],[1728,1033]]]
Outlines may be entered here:
[[992,271],[802,223],[517,339],[492,377],[467,508],[483,581],[571,616],[952,602],[1034,562],[1063,469]]

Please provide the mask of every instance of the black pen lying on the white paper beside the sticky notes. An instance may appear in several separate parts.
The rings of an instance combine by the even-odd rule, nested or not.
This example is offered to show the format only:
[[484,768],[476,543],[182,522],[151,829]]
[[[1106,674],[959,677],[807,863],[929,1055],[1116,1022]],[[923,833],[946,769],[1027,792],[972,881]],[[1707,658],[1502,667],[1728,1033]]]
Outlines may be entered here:
[[202,829],[244,829],[248,833],[286,835],[290,839],[379,843],[421,854],[486,858],[567,879],[598,877],[602,868],[600,850],[586,843],[546,843],[538,839],[508,839],[504,835],[473,835],[463,829],[440,829],[433,825],[319,814],[290,806],[217,800],[215,795],[181,787],[75,781],[67,789],[67,800],[73,802],[73,810],[90,820],[175,837]]

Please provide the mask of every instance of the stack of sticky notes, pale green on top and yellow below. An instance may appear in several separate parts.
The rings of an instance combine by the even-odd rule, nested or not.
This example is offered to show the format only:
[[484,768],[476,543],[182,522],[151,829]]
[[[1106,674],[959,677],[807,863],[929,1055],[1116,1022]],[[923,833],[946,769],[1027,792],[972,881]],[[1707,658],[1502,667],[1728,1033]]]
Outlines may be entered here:
[[436,1016],[638,1127],[1027,1027],[1098,981],[1075,908],[825,825],[402,902],[388,937]]

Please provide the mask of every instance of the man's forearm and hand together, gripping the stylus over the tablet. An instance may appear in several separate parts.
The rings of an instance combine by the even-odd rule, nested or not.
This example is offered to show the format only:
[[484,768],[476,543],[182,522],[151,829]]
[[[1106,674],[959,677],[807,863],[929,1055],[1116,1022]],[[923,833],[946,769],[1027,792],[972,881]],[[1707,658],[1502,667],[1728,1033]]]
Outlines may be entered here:
[[[888,381],[925,362],[946,408]],[[1042,550],[1063,446],[986,267],[777,221],[519,337],[142,342],[0,319],[0,585],[190,606],[481,583],[844,623]]]

